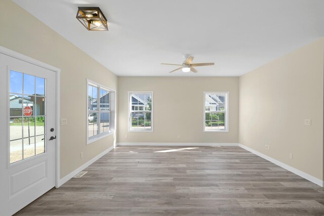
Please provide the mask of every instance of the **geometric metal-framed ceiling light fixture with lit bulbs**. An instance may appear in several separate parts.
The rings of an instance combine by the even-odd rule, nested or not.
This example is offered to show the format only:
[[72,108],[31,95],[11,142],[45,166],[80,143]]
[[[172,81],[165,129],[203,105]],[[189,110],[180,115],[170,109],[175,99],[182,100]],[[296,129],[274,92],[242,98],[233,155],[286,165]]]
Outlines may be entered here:
[[108,31],[107,19],[98,7],[78,7],[76,19],[89,31]]

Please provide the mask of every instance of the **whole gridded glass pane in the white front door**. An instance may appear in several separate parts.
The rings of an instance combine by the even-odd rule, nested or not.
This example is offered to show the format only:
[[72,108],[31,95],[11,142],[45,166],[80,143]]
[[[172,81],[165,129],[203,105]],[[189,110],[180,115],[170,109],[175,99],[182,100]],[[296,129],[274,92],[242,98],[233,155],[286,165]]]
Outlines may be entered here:
[[45,79],[10,71],[10,163],[45,152]]

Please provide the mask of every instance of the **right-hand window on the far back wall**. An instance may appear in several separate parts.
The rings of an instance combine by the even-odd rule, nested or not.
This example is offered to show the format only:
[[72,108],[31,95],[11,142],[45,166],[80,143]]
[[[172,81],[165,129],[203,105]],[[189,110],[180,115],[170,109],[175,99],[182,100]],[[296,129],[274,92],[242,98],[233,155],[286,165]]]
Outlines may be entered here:
[[228,132],[228,93],[204,93],[204,131]]

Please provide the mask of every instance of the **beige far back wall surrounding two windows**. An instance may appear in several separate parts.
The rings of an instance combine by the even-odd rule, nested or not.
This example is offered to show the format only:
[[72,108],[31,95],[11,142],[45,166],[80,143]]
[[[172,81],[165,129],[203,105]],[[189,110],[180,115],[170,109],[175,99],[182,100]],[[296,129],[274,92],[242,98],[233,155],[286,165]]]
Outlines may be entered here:
[[[153,132],[128,132],[128,91],[154,92]],[[203,132],[203,92],[229,92],[228,133]],[[118,143],[238,141],[238,77],[119,77],[118,101]]]

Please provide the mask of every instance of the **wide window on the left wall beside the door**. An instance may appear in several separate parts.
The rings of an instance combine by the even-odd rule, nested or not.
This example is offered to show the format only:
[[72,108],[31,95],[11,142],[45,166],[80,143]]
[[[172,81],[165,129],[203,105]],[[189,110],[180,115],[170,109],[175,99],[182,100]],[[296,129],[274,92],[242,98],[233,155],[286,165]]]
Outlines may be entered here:
[[88,144],[114,131],[115,91],[88,80]]

